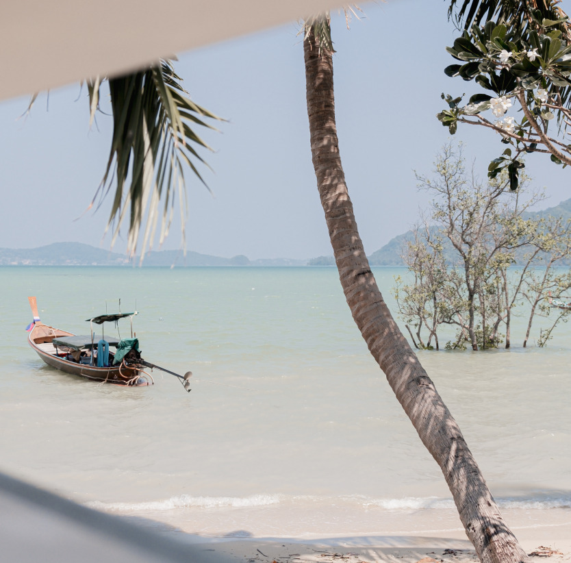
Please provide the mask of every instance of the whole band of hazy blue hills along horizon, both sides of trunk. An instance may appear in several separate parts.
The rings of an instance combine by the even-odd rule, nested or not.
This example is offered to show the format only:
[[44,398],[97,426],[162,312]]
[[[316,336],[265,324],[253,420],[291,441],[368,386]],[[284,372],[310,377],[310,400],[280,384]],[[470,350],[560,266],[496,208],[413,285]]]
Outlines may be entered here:
[[[543,211],[528,212],[526,216],[541,218],[553,215],[571,218],[571,198]],[[368,258],[371,266],[404,266],[401,249],[412,240],[412,231],[399,234]],[[84,245],[81,242],[55,242],[34,249],[0,248],[0,266],[133,266],[139,258],[129,260],[125,254]],[[318,256],[309,260],[294,258],[259,258],[250,260],[242,254],[221,258],[209,254],[178,250],[150,251],[144,257],[143,267],[192,266],[335,266],[333,256]]]

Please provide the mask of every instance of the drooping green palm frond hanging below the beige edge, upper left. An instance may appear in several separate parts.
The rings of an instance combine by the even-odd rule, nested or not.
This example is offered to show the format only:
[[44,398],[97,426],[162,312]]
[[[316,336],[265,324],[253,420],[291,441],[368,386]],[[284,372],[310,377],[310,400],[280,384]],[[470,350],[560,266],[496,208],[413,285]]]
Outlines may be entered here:
[[[90,123],[99,106],[100,86],[99,79],[88,82]],[[196,166],[208,165],[196,149],[212,150],[196,134],[196,125],[216,130],[205,118],[223,120],[188,97],[168,60],[137,73],[109,79],[109,88],[114,122],[112,146],[92,204],[110,192],[115,179],[107,224],[107,229],[113,228],[112,245],[129,216],[127,253],[130,257],[136,255],[144,226],[140,247],[142,261],[144,253],[153,245],[159,216],[162,216],[160,243],[164,241],[178,200],[182,244],[186,248],[184,168],[189,166],[206,186]]]

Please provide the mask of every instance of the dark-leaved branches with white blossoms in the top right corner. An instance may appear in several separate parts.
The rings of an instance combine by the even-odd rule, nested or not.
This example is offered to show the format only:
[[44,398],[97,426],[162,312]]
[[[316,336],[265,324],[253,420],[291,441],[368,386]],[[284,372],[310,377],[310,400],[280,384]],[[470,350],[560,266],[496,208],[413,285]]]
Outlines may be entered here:
[[[479,6],[480,20],[485,3]],[[466,0],[462,10],[468,4]],[[505,168],[509,188],[515,190],[524,153],[546,153],[556,164],[571,164],[571,26],[555,0],[544,0],[542,10],[531,0],[511,4],[511,12],[496,10],[497,23],[479,23],[474,17],[472,27],[447,48],[461,64],[447,66],[446,75],[473,80],[486,92],[472,95],[464,105],[462,97],[443,94],[448,108],[437,118],[451,134],[458,123],[480,125],[511,145],[492,160],[488,175],[494,178]],[[474,0],[467,24],[476,5]],[[494,14],[493,5],[487,8]]]

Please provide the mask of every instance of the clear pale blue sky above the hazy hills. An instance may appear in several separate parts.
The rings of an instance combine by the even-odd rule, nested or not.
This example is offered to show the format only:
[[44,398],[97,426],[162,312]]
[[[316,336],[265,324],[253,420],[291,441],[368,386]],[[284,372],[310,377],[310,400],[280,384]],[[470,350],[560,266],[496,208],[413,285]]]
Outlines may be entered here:
[[[435,114],[441,92],[477,91],[451,79],[445,48],[459,35],[447,1],[389,0],[359,4],[361,21],[346,29],[333,14],[335,111],[340,153],[359,232],[368,254],[418,221],[429,203],[414,171],[429,175],[449,140]],[[230,258],[331,255],[316,188],[305,105],[303,46],[292,22],[250,36],[178,53],[175,71],[196,103],[228,123],[207,132],[202,153],[214,195],[186,174],[189,250]],[[105,171],[112,123],[99,114],[89,129],[87,92],[79,84],[41,94],[27,117],[27,97],[0,103],[0,247],[84,242],[110,248],[104,236],[111,198],[85,212]],[[483,127],[458,128],[468,160],[485,178],[505,145]],[[570,174],[543,155],[526,171],[548,199],[571,197]],[[114,246],[125,251],[126,232]],[[163,249],[179,249],[175,221]],[[157,249],[155,246],[154,249]]]

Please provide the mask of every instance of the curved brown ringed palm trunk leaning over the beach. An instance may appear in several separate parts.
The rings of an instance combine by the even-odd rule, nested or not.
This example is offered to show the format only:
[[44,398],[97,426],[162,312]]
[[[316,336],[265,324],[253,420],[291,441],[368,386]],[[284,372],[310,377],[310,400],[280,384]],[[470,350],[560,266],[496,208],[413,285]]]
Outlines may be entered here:
[[304,41],[312,157],[331,245],[353,318],[422,443],[440,465],[466,534],[483,562],[528,561],[505,525],[451,413],[392,318],[366,258],[338,148],[330,52]]

